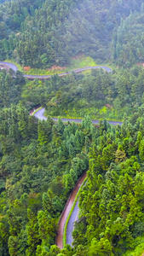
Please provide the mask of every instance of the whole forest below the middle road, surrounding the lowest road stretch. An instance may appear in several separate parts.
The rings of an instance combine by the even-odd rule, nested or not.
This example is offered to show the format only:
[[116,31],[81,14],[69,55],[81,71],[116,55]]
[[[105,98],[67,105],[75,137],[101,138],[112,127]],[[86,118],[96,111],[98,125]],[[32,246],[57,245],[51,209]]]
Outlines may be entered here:
[[60,253],[60,212],[88,166],[74,248],[62,255],[124,255],[143,242],[141,110],[116,128],[88,116],[82,125],[37,122],[21,102],[1,111],[2,255]]

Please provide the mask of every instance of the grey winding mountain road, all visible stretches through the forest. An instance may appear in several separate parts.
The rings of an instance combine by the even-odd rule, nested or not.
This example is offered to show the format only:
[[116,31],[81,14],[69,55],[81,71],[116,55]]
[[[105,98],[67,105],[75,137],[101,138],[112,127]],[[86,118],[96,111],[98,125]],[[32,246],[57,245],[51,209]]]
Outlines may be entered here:
[[[6,62],[6,61],[0,61],[0,68],[6,68],[7,70],[9,70],[9,68],[13,69],[14,70],[14,73],[16,73],[16,71],[18,70],[18,67],[16,67],[13,63],[10,63],[10,62]],[[85,70],[91,70],[91,69],[96,69],[96,68],[103,68],[105,69],[108,73],[112,73],[112,69],[110,67],[105,67],[105,66],[96,66],[96,67],[84,67],[84,68],[78,68],[78,69],[75,69],[73,70],[72,72],[74,73],[81,73]],[[58,74],[59,76],[66,76],[67,74],[69,73],[72,73],[72,72],[68,72],[68,73],[60,73]],[[23,75],[26,79],[50,79],[52,77],[52,75]],[[37,119],[40,119],[40,120],[46,120],[47,118],[44,116],[44,108],[41,108],[39,110],[37,110],[36,113],[34,113],[34,116],[37,118]],[[57,121],[57,118],[53,118],[53,120]],[[81,123],[82,122],[82,119],[62,119],[63,122],[76,122],[76,123]],[[115,121],[108,121],[110,125],[122,125],[122,122],[115,122]],[[92,120],[92,124],[99,124],[99,121],[98,120]],[[78,189],[80,188],[80,186],[82,185],[83,181],[84,181],[84,177],[86,177],[86,173],[84,174],[84,176],[80,177],[80,179],[78,180],[78,183],[76,184],[76,187],[73,189],[72,191],[72,194],[70,195],[69,197],[69,200],[67,201],[66,203],[66,207],[64,209],[64,211],[62,212],[61,214],[61,217],[60,217],[60,222],[59,222],[59,230],[58,230],[58,236],[57,236],[57,239],[56,239],[56,245],[58,247],[60,247],[60,249],[62,249],[63,247],[63,230],[64,230],[64,226],[65,226],[65,223],[66,223],[66,218],[68,217],[69,215],[69,212],[71,210],[71,207],[72,207],[72,204],[73,204],[73,201],[75,199],[75,196],[77,195],[78,193]],[[66,243],[72,245],[72,230],[73,230],[73,226],[74,226],[74,222],[75,220],[77,220],[78,218],[78,201],[73,209],[73,212],[72,212],[72,215],[71,215],[71,218],[68,222],[68,225],[67,225],[67,230],[66,230]]]

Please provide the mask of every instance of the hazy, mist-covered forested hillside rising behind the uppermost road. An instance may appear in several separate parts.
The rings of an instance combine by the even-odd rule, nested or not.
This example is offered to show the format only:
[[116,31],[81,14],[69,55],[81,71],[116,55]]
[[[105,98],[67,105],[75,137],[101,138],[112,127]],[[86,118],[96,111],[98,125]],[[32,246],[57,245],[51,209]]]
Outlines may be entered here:
[[[0,59],[15,58],[31,67],[66,66],[72,56],[84,53],[105,61],[111,59],[112,40],[114,48],[117,44],[118,53],[113,52],[115,59],[120,54],[118,45],[122,47],[122,42],[116,42],[122,40],[121,20],[134,11],[143,12],[142,0],[6,2],[0,6]],[[142,27],[141,19],[133,22]],[[117,29],[118,39],[114,36]],[[139,51],[141,44],[135,45],[140,47]]]

